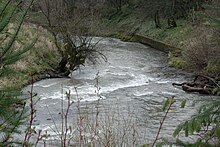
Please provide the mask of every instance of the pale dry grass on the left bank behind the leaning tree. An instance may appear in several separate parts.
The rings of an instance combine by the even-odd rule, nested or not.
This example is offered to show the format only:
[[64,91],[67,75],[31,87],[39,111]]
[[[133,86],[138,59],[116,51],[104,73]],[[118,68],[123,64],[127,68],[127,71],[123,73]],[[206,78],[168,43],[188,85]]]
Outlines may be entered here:
[[[13,24],[9,25],[9,32],[12,32],[13,27]],[[56,58],[55,61],[57,61],[59,56],[56,46],[53,43],[52,35],[46,29],[34,24],[25,23],[22,26],[14,44],[15,50],[21,48],[24,44],[31,43],[35,37],[38,40],[34,47],[22,55],[21,60],[9,66],[10,69],[20,73],[18,75],[13,74],[0,77],[0,88],[13,86],[14,84],[25,85],[32,72],[49,68],[49,65],[45,63],[46,59],[49,60],[49,56],[53,55]]]

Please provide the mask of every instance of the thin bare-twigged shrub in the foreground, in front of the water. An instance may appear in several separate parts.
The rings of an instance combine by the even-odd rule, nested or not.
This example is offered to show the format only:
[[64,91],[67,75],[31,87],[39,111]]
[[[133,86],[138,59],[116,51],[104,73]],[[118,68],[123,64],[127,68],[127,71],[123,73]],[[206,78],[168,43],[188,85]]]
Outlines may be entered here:
[[[70,91],[63,91],[63,93],[66,93],[66,96],[62,99],[61,104],[61,124],[58,124],[50,114],[51,120],[53,120],[56,127],[54,129],[51,127],[51,130],[48,131],[34,129],[34,132],[28,132],[25,135],[25,144],[23,146],[27,146],[27,143],[32,143],[34,146],[52,145],[62,147],[136,146],[138,143],[138,131],[135,125],[136,119],[132,115],[126,114],[124,116],[121,114],[119,110],[120,106],[117,106],[118,110],[110,110],[110,108],[103,105],[101,102],[102,96],[99,93],[98,78],[97,75],[95,79],[95,93],[98,100],[94,102],[94,105],[87,106],[86,104],[85,106],[85,103],[82,102],[83,98],[78,96],[77,88],[75,88],[76,101],[72,100],[73,95],[71,95]],[[30,106],[33,106],[33,101],[31,101]],[[77,112],[70,111],[71,109]],[[30,110],[31,113],[33,110],[35,111],[32,107]],[[76,113],[77,115],[74,117],[72,113]],[[31,120],[33,121],[33,119]],[[35,128],[32,121],[29,122],[28,128]],[[51,131],[54,132],[52,133]],[[29,138],[26,136],[29,136]],[[30,141],[31,137],[35,140]]]

